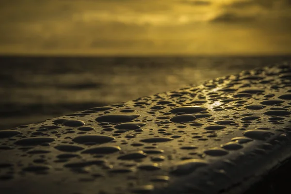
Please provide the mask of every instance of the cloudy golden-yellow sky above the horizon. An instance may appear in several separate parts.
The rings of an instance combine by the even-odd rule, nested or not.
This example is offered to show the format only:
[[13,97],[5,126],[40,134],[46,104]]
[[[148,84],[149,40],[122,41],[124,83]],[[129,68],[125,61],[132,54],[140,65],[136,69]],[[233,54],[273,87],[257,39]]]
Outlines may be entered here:
[[0,55],[291,54],[291,0],[1,0]]

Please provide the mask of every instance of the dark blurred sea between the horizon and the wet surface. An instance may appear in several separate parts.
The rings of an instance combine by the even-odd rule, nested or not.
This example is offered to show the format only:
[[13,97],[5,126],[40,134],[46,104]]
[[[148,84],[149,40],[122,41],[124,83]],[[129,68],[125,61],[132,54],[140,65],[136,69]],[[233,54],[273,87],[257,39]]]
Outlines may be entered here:
[[0,129],[290,60],[291,56],[1,56]]

